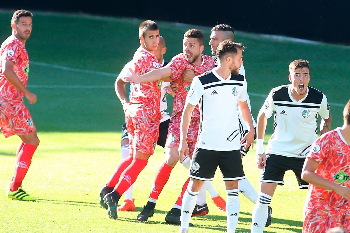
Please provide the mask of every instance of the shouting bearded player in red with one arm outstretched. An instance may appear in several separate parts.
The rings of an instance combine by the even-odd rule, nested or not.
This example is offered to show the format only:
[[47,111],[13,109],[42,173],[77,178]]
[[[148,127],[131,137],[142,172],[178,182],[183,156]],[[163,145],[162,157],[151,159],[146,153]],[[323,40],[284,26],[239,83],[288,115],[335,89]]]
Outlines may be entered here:
[[[172,81],[179,84],[177,93],[174,98],[173,103],[173,115],[170,119],[168,137],[165,147],[165,160],[162,165],[159,167],[158,172],[156,173],[154,184],[152,185],[151,194],[149,196],[149,201],[147,202],[144,210],[139,214],[139,221],[147,221],[149,217],[152,217],[154,214],[154,208],[156,200],[159,197],[164,185],[169,179],[170,173],[173,167],[178,161],[178,147],[180,139],[180,119],[185,103],[186,95],[191,86],[190,82],[181,78],[181,74],[186,70],[193,70],[196,75],[202,74],[206,71],[211,70],[214,67],[214,60],[202,54],[204,50],[204,35],[200,30],[190,29],[185,32],[183,39],[183,53],[175,56],[167,66],[160,68],[158,70],[151,71],[145,75],[138,77],[137,75],[132,75],[131,77],[126,78],[131,83],[139,82],[149,82],[154,80],[164,79],[166,77],[171,78]],[[196,107],[194,114],[192,115],[191,125],[189,134],[187,137],[188,143],[190,144],[190,156],[194,150],[194,145],[197,140],[197,132],[199,125],[199,109]],[[189,160],[187,161],[189,168]],[[186,188],[187,182],[184,184]],[[205,188],[209,190],[214,190],[211,184],[208,184]],[[205,215],[208,213],[208,206],[205,201],[205,188],[202,192],[201,205],[198,205],[198,211],[195,213],[197,215]],[[217,194],[217,192],[215,192]],[[204,195],[203,195],[204,194]],[[219,197],[219,195],[213,195]],[[221,198],[221,197],[219,197]],[[222,199],[222,198],[221,198]],[[169,211],[166,222],[169,224],[180,224],[180,214],[181,214],[181,201],[182,195],[176,202],[174,208]],[[222,199],[223,201],[223,199]],[[223,201],[224,202],[224,201]],[[224,206],[224,205],[223,205]]]

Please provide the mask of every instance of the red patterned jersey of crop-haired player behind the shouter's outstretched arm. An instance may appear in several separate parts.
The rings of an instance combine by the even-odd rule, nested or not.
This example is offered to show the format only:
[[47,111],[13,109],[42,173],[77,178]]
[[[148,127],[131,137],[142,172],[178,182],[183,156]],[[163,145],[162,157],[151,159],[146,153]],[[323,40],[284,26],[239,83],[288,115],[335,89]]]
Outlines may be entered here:
[[[135,52],[133,61],[131,69],[138,76],[161,67],[157,58],[141,47]],[[132,117],[145,117],[146,114],[147,118],[161,119],[159,83],[161,82],[154,81],[133,85],[126,114]]]

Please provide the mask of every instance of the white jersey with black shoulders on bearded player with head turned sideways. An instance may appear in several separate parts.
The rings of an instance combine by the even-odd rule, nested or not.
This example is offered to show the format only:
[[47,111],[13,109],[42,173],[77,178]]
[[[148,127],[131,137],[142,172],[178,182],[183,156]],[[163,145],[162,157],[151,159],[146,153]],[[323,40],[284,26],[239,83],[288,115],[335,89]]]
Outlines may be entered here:
[[214,151],[240,150],[237,101],[247,100],[243,75],[225,80],[215,70],[196,76],[186,97],[201,112],[196,147]]

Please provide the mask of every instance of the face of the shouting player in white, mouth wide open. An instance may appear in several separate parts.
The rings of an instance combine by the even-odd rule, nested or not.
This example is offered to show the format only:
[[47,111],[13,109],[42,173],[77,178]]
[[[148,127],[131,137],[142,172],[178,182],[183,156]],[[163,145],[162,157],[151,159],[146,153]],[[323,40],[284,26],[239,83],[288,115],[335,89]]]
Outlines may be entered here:
[[296,68],[289,71],[289,81],[292,83],[292,89],[298,95],[305,95],[309,86],[310,74],[307,67]]

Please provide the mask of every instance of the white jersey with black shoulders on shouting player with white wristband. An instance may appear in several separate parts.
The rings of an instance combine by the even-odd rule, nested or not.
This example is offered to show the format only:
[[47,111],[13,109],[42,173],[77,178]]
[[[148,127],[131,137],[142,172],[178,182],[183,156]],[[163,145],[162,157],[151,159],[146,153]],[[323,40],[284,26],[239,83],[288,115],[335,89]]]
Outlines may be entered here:
[[266,153],[305,158],[317,138],[317,116],[329,117],[327,97],[319,90],[307,87],[305,97],[295,101],[292,86],[273,88],[264,103],[267,118],[274,114],[273,130]]

